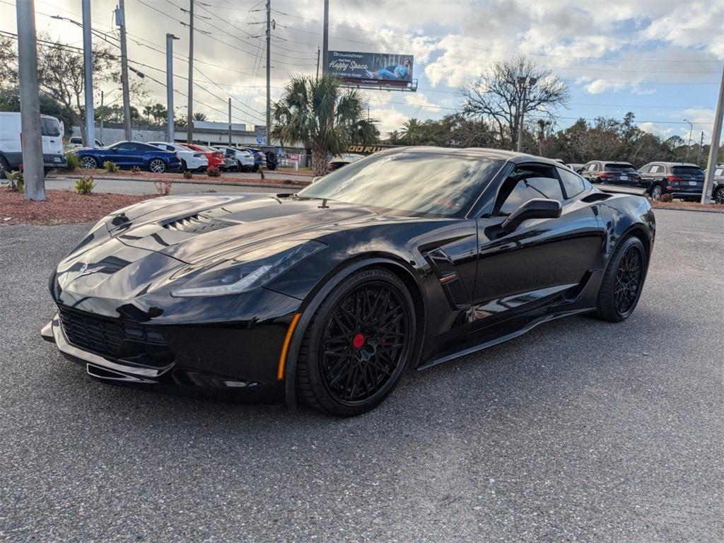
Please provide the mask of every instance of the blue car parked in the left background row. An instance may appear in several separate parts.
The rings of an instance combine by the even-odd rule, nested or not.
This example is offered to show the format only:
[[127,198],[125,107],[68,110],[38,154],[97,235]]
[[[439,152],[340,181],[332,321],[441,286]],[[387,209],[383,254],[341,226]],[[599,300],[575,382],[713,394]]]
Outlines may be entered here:
[[102,168],[106,161],[114,162],[120,168],[138,166],[154,174],[181,169],[181,160],[176,153],[140,141],[119,141],[98,149],[80,148],[69,152],[78,157],[83,169]]

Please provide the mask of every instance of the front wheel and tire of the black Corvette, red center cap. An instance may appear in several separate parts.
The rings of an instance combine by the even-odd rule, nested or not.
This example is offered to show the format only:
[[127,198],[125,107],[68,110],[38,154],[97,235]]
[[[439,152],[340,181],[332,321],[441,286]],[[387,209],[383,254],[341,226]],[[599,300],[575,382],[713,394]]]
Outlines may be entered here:
[[382,403],[410,363],[416,317],[391,271],[356,271],[314,313],[297,364],[300,397],[318,411],[356,416]]

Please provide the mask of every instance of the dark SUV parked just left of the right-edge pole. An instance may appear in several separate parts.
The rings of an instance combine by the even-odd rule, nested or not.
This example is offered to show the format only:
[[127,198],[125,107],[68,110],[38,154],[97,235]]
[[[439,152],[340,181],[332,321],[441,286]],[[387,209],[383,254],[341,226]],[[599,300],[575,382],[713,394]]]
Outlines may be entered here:
[[649,162],[639,169],[639,173],[653,200],[658,200],[662,194],[682,200],[702,199],[704,171],[696,164]]

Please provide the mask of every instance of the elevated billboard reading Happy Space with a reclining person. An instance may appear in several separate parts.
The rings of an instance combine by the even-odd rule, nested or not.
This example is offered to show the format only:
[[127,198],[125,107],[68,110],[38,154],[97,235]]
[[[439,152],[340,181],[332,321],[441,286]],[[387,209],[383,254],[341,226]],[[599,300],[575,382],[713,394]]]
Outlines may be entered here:
[[360,86],[411,86],[414,57],[405,54],[329,51],[327,73]]

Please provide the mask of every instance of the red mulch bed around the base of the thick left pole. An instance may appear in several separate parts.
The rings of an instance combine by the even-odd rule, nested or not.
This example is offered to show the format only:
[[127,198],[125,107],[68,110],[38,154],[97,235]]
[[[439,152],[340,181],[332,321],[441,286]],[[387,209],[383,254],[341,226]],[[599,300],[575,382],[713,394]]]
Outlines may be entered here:
[[0,225],[96,222],[111,211],[156,196],[108,193],[80,195],[71,190],[46,190],[46,200],[36,202],[25,200],[23,193],[0,190]]

